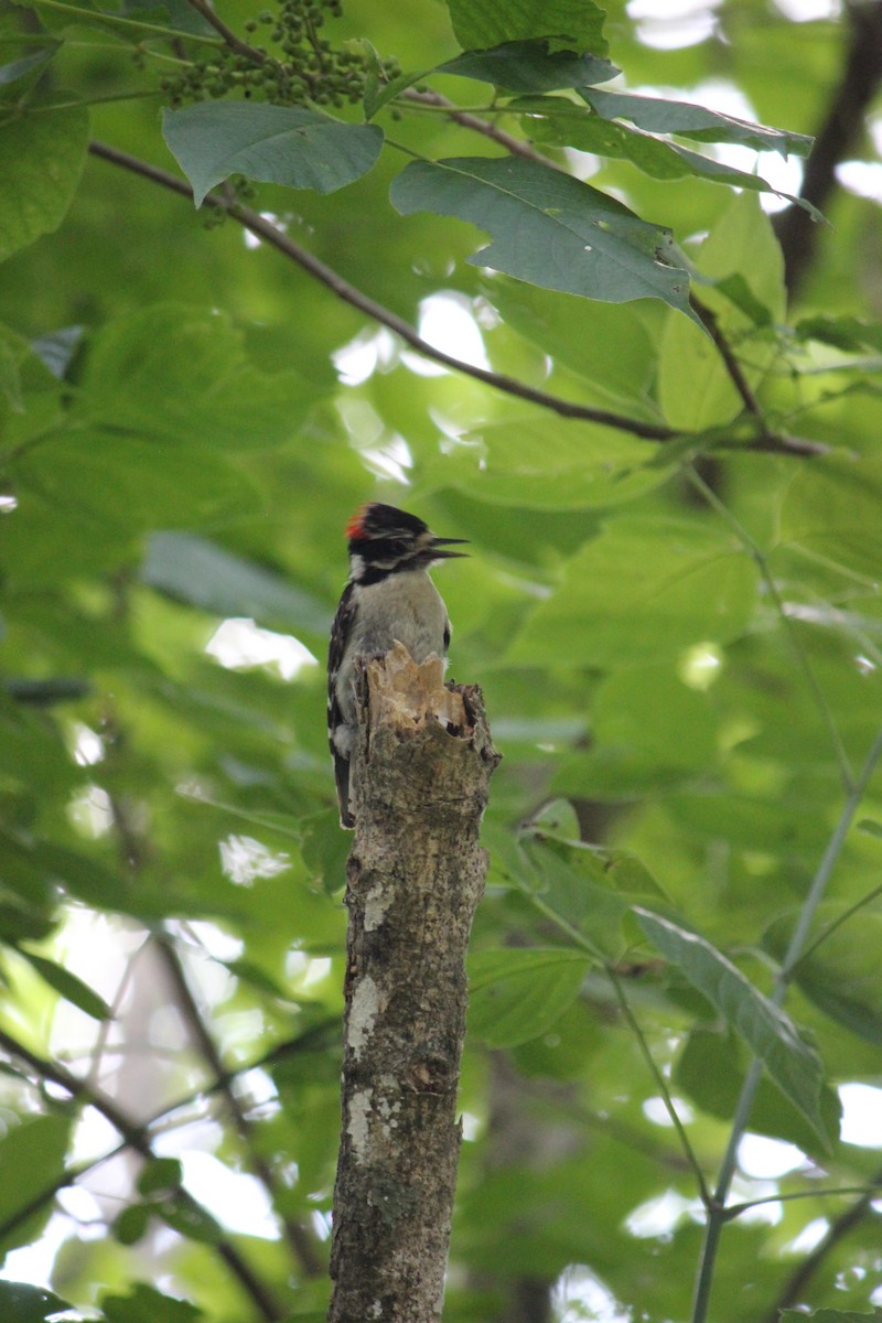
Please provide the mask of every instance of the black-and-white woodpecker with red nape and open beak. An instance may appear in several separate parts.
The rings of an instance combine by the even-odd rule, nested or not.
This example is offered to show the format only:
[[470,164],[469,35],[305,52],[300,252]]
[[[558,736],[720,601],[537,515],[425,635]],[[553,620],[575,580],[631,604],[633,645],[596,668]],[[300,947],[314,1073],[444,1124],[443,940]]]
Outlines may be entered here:
[[356,742],[354,660],[380,656],[395,640],[414,662],[444,656],[450,619],[427,570],[465,556],[446,548],[463,537],[435,537],[422,519],[372,501],[346,524],[349,579],[331,628],[328,738],[337,782],[340,826],[354,827],[349,807],[349,759]]

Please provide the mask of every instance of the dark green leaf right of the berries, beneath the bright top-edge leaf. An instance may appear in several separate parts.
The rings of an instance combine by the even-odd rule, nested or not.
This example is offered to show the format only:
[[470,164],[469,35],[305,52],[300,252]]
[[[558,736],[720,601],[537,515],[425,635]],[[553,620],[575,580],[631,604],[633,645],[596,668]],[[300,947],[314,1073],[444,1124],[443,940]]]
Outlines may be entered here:
[[547,41],[506,41],[492,50],[467,50],[439,65],[434,73],[459,74],[508,91],[529,93],[608,82],[620,70],[596,56],[551,52]]

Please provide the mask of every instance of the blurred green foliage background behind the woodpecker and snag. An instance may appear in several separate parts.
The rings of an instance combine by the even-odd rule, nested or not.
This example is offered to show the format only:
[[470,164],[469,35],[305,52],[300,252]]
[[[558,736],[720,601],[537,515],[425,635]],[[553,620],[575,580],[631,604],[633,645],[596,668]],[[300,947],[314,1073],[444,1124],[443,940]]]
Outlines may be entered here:
[[[701,1265],[718,1323],[882,1299],[879,1155],[838,1136],[836,1091],[879,1085],[882,1044],[879,782],[854,789],[882,713],[882,232],[834,176],[874,156],[879,5],[801,21],[722,0],[682,28],[608,11],[629,90],[795,134],[848,106],[807,176],[832,226],[809,243],[783,212],[782,253],[751,189],[565,156],[554,126],[495,119],[488,85],[430,81],[729,278],[696,288],[741,393],[661,300],[468,265],[475,228],[390,206],[395,148],[340,192],[245,201],[426,335],[456,312],[489,372],[632,429],[428,370],[233,220],[86,156],[91,138],[181,177],[156,52],[189,48],[89,5],[1,11],[0,1232],[37,1246],[7,1278],[42,1287],[52,1263],[71,1318],[324,1316],[349,841],[312,659],[370,497],[471,540],[439,576],[452,671],[505,755],[446,1316],[686,1319]],[[458,54],[451,12],[352,0],[329,28],[430,69]],[[491,12],[522,34],[529,7]],[[126,15],[210,32],[176,0]],[[251,15],[223,5],[238,33]],[[45,70],[9,73],[34,50]],[[443,107],[377,122],[432,159],[501,152]],[[782,966],[800,914],[808,955]],[[760,994],[787,994],[801,1036]],[[751,1048],[768,1072],[747,1122]],[[796,1147],[756,1168],[746,1122]],[[727,1150],[751,1207],[711,1213],[714,1256]],[[26,1285],[0,1301],[61,1307]]]

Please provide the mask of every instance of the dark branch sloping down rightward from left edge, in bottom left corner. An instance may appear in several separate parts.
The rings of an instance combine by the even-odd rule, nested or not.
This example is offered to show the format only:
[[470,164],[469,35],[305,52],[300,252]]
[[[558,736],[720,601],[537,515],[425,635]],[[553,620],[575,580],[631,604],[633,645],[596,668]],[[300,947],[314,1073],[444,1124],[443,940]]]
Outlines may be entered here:
[[[78,1080],[77,1076],[71,1074],[70,1070],[66,1070],[57,1061],[48,1061],[37,1056],[36,1052],[25,1048],[24,1044],[19,1043],[4,1029],[0,1029],[0,1048],[8,1052],[9,1056],[17,1057],[19,1061],[24,1061],[30,1066],[40,1080],[60,1085],[71,1098],[94,1107],[95,1111],[100,1113],[111,1123],[114,1130],[126,1140],[126,1144],[140,1154],[141,1158],[148,1162],[156,1158],[145,1127],[139,1126],[127,1117],[107,1094]],[[210,1220],[210,1215],[193,1199],[189,1191],[180,1187],[176,1193],[198,1215],[201,1221]],[[279,1319],[284,1318],[287,1311],[278,1304],[268,1287],[255,1275],[250,1265],[229,1240],[217,1240],[212,1248],[223,1259],[233,1277],[235,1277],[245,1294],[258,1310],[261,1318],[264,1319],[264,1323],[278,1323]]]

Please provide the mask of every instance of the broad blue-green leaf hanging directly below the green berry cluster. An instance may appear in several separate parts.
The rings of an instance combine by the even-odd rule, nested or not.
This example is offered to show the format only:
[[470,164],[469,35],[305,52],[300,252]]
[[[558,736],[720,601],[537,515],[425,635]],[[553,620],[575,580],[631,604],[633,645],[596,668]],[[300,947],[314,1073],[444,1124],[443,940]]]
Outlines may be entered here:
[[163,134],[197,206],[230,175],[333,193],[368,173],[383,142],[376,124],[342,124],[315,110],[258,102],[164,110]]

